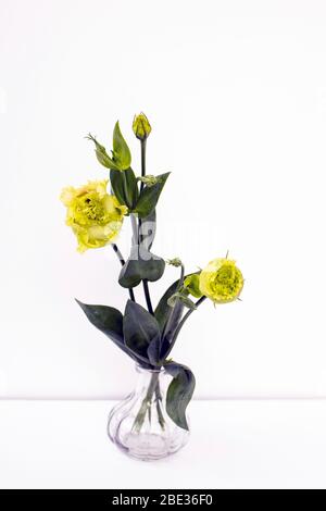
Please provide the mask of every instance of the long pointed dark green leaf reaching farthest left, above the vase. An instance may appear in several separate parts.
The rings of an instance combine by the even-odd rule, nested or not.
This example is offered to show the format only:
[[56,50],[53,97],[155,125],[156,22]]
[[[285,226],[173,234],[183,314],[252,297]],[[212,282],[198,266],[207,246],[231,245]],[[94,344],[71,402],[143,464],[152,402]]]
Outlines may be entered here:
[[77,299],[76,302],[80,306],[92,325],[105,334],[120,349],[135,360],[135,357],[124,344],[123,315],[117,309],[106,306],[89,306]]

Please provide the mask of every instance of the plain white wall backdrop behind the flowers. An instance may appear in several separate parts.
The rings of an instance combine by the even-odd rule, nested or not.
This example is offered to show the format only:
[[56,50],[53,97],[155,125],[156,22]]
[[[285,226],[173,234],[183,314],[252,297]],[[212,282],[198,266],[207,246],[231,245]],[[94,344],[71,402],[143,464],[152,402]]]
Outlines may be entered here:
[[[123,309],[110,247],[80,256],[63,186],[104,177],[143,110],[148,171],[172,171],[155,252],[189,271],[227,250],[242,302],[204,303],[175,359],[197,398],[326,396],[324,1],[1,0],[2,398],[115,398],[129,360],[73,298]],[[120,246],[126,254],[128,227]],[[168,267],[154,301],[176,278]],[[136,290],[140,296],[141,290]]]

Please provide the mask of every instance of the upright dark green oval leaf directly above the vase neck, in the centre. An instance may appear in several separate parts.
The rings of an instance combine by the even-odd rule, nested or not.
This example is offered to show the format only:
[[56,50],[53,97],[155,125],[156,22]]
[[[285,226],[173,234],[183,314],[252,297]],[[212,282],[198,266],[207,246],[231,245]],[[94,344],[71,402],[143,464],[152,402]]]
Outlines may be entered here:
[[[161,338],[159,324],[153,315],[151,315],[143,307],[131,300],[127,301],[125,315],[123,319],[123,332],[125,345],[141,360],[148,362],[155,358],[158,351],[156,345]],[[148,349],[151,342],[151,353]],[[152,363],[152,362],[151,362]]]

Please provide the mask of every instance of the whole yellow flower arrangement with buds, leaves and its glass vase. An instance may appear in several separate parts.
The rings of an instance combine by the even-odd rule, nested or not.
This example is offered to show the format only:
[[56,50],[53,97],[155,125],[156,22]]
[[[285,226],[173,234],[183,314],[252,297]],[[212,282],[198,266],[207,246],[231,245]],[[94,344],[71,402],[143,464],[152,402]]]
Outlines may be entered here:
[[[188,431],[186,409],[193,394],[195,376],[189,367],[171,358],[185,322],[206,298],[214,304],[238,299],[243,277],[235,261],[227,256],[212,260],[203,270],[186,274],[179,258],[164,261],[152,252],[155,210],[170,173],[154,176],[146,172],[146,147],[151,126],[143,113],[135,116],[133,130],[140,141],[140,175],[137,176],[131,169],[130,150],[117,122],[111,153],[96,137],[88,135],[99,163],[110,172],[108,178],[89,182],[80,188],[64,188],[61,200],[66,207],[66,225],[77,238],[78,251],[111,245],[122,266],[118,284],[129,296],[123,313],[113,307],[86,304],[78,300],[77,303],[87,319],[148,375],[142,394],[139,390],[134,392],[131,406],[120,406],[112,412],[114,432],[110,434],[109,427],[111,438],[120,447],[131,456],[141,452],[138,457],[147,459],[151,453],[152,458],[159,458],[176,451],[185,441],[184,438],[176,441],[176,432],[180,435]],[[116,238],[126,219],[131,222],[133,238],[125,260]],[[162,277],[166,263],[179,269],[179,275],[153,308],[149,283]],[[147,309],[135,298],[134,288],[140,285]],[[167,377],[164,396],[164,385],[160,382],[162,373]],[[127,435],[117,439],[117,429],[122,429],[124,420],[128,423],[125,427]],[[159,449],[160,452],[158,443],[149,441],[153,422],[158,426],[154,436],[160,434],[165,439],[165,447],[161,451]],[[146,435],[146,443],[139,448],[141,432]]]

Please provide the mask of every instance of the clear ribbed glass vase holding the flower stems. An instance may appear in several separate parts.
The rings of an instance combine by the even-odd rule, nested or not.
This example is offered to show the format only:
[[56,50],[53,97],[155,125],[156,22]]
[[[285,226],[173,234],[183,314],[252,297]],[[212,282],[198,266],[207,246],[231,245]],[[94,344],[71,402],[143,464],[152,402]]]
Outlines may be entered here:
[[126,454],[138,460],[159,460],[184,447],[189,432],[178,427],[166,412],[171,376],[161,370],[136,366],[135,390],[116,404],[110,415],[110,439]]

